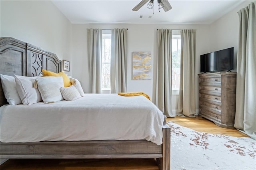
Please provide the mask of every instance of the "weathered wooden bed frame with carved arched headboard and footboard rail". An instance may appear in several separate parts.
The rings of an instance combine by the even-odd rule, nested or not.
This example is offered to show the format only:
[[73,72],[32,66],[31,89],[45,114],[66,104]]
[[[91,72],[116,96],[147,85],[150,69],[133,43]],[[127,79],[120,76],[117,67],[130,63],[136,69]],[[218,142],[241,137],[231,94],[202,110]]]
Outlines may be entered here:
[[[0,68],[4,75],[37,76],[42,69],[62,71],[54,53],[14,38],[0,38]],[[0,87],[0,104],[8,104]],[[160,170],[170,170],[170,127],[164,122],[163,144],[147,140],[0,142],[0,158],[156,158]]]

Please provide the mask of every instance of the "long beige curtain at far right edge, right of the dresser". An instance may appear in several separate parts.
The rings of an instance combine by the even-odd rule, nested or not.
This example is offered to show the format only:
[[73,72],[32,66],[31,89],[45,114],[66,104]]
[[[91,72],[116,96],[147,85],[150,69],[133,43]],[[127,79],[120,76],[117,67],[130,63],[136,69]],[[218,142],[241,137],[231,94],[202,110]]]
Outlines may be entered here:
[[255,2],[238,12],[239,43],[234,127],[256,140],[256,11]]

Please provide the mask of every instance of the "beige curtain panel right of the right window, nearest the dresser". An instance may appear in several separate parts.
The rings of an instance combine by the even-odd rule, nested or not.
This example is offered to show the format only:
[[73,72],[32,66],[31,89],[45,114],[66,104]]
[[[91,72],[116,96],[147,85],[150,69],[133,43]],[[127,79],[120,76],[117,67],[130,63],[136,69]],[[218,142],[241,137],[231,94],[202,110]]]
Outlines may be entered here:
[[195,117],[196,30],[180,30],[180,94],[177,115]]

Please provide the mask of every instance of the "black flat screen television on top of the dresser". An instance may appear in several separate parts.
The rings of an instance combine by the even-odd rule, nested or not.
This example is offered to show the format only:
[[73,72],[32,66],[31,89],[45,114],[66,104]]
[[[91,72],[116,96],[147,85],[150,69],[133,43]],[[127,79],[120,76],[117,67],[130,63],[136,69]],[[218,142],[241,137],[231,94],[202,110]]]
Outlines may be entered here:
[[234,47],[200,55],[200,72],[234,69]]

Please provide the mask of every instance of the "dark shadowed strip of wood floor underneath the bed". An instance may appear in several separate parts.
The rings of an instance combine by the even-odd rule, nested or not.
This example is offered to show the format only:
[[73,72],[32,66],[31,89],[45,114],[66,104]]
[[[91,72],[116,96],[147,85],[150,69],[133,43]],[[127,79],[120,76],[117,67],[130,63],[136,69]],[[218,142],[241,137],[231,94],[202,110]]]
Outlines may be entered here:
[[158,170],[154,159],[20,159],[8,160],[1,170]]

